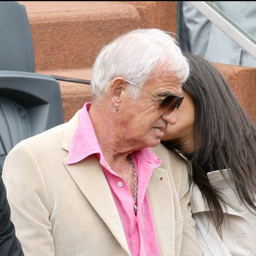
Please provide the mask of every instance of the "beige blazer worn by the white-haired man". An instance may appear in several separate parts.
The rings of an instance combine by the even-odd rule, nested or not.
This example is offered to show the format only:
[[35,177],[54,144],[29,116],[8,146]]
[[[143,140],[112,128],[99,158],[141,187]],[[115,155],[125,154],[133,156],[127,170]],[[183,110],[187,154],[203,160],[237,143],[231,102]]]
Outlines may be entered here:
[[[92,155],[66,165],[78,123],[79,112],[23,140],[4,162],[11,219],[25,256],[131,255],[98,159]],[[147,194],[161,255],[201,255],[186,165],[161,145],[154,152],[163,163],[154,169]]]

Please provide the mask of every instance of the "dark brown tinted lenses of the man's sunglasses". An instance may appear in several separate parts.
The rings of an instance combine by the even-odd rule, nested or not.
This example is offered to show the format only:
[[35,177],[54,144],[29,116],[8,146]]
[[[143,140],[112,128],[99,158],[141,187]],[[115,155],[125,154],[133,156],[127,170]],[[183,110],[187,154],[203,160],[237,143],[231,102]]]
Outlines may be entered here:
[[181,105],[183,100],[183,96],[176,96],[176,95],[168,95],[164,98],[158,108],[158,111],[161,115],[167,116],[174,109],[178,108]]

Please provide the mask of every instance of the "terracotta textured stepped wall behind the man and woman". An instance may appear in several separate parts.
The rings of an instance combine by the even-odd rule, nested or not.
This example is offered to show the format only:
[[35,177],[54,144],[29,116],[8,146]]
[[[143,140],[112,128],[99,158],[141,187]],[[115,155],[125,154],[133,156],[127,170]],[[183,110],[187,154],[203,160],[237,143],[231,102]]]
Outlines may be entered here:
[[[30,21],[36,72],[91,78],[103,45],[128,30],[156,27],[176,33],[176,1],[20,1]],[[256,123],[256,68],[216,64]],[[90,86],[60,81],[64,118],[85,102]]]

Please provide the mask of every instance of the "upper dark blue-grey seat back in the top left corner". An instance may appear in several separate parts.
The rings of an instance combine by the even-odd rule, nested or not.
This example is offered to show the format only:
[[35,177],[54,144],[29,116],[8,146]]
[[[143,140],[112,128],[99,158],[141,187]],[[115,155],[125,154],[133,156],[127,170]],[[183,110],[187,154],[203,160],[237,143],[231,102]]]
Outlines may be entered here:
[[0,70],[35,72],[26,8],[16,1],[0,1]]

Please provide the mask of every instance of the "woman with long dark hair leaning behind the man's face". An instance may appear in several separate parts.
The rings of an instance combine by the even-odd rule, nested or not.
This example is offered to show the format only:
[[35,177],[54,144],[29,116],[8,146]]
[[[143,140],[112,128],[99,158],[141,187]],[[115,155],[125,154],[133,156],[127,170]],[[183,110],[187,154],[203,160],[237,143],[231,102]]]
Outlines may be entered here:
[[184,55],[190,76],[177,124],[162,144],[192,167],[191,207],[203,252],[256,255],[256,125],[213,64]]

